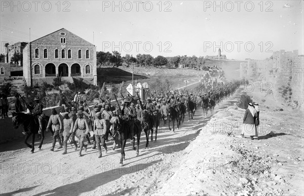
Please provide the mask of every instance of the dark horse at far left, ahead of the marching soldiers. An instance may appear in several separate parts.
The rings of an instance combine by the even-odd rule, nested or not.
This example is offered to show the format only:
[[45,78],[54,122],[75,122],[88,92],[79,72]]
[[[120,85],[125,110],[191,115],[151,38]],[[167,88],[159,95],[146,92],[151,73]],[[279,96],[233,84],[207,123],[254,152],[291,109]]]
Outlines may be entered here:
[[[27,145],[27,147],[31,148],[31,153],[34,153],[34,144],[35,144],[35,134],[38,133],[39,131],[39,122],[38,119],[34,119],[34,116],[32,116],[31,114],[27,114],[27,113],[23,113],[23,112],[13,112],[13,119],[12,119],[13,125],[15,129],[18,129],[18,127],[20,125],[23,126],[23,130],[25,132],[25,140],[24,143]],[[44,130],[46,127],[46,124],[44,123],[44,121],[42,121],[42,139],[41,142],[39,144],[39,149],[41,150],[42,144],[43,144],[43,140],[45,138],[44,135]],[[32,136],[32,144],[28,144],[27,140],[29,138],[29,136]]]

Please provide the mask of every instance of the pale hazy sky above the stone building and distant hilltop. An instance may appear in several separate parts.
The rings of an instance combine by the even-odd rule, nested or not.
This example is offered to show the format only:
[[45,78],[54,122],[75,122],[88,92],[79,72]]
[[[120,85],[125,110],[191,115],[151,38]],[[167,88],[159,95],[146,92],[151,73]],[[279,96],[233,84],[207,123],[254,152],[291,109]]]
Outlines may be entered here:
[[[265,59],[303,49],[303,1],[1,1],[1,45],[65,28],[122,56]],[[30,36],[29,36],[30,28]]]

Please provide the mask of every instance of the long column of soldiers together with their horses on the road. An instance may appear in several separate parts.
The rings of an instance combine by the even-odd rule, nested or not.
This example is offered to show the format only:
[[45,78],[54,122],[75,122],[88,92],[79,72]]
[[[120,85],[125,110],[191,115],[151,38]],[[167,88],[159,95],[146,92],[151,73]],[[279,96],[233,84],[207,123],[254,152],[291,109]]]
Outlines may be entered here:
[[[92,148],[95,149],[97,146],[99,158],[102,157],[100,144],[103,146],[105,153],[107,153],[106,142],[111,139],[114,140],[112,149],[115,149],[117,145],[122,148],[123,159],[127,139],[130,139],[130,142],[133,143],[133,149],[135,149],[135,136],[137,136],[138,154],[139,138],[142,130],[146,133],[147,147],[150,131],[152,132],[151,140],[153,140],[153,131],[156,131],[155,140],[157,139],[157,129],[161,120],[164,121],[164,124],[169,120],[170,129],[170,121],[172,121],[173,118],[178,122],[186,112],[189,114],[193,112],[193,118],[197,106],[212,111],[216,104],[232,94],[237,88],[238,85],[233,84],[230,86],[201,88],[197,89],[196,92],[190,93],[188,93],[187,90],[175,90],[167,93],[161,92],[159,94],[154,92],[153,94],[150,93],[151,96],[147,97],[145,101],[140,99],[138,93],[136,93],[135,96],[128,94],[126,97],[122,96],[121,103],[118,102],[115,96],[115,104],[112,104],[110,97],[106,95],[104,99],[100,99],[100,103],[95,103],[91,107],[92,109],[90,109],[85,100],[81,101],[81,93],[77,93],[74,100],[72,100],[69,105],[64,105],[64,109],[60,109],[60,112],[57,113],[55,109],[51,110],[52,115],[48,123],[45,123],[45,126],[43,125],[43,106],[39,102],[39,99],[35,99],[35,104],[32,106],[28,105],[28,108],[30,109],[30,113],[36,116],[35,121],[39,122],[39,133],[43,132],[44,129],[47,131],[51,130],[53,134],[52,151],[54,151],[57,140],[59,142],[58,149],[63,147],[62,154],[67,153],[68,141],[71,145],[73,144],[74,149],[77,150],[78,144],[74,139],[76,136],[80,147],[79,156],[82,156],[83,148],[87,151],[85,140],[87,139],[88,144],[91,144],[90,131],[92,131]],[[191,106],[191,104],[194,106]],[[176,115],[174,116],[172,113],[176,113]],[[177,126],[178,124],[180,125],[180,121],[177,123]],[[26,131],[29,130],[25,129],[25,133]],[[122,136],[123,131],[125,131],[124,136]],[[108,138],[109,135],[110,138]],[[33,152],[33,146],[31,147]]]

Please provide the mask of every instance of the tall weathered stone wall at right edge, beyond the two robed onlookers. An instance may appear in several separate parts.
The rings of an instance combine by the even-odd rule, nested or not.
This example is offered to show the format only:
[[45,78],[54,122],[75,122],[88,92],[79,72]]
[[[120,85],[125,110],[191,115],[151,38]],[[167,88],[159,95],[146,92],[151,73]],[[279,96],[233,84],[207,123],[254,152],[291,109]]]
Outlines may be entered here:
[[[240,64],[240,77],[270,84],[276,99],[293,107],[303,107],[303,55],[298,51],[273,53],[273,58],[248,60]],[[268,88],[265,87],[264,88]],[[270,89],[269,89],[270,90]],[[285,93],[284,93],[285,91]]]

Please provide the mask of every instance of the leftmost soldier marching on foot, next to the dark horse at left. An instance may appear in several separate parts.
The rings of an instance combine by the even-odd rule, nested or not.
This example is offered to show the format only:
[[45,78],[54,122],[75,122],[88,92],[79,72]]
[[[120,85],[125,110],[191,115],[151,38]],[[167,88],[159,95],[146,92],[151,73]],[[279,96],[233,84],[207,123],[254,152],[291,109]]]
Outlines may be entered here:
[[47,131],[52,126],[52,131],[54,132],[54,134],[53,134],[53,144],[51,150],[54,151],[57,138],[59,142],[59,147],[57,149],[62,148],[61,138],[59,137],[59,134],[62,133],[62,123],[60,116],[57,114],[57,111],[54,108],[51,110],[51,113],[52,115],[50,116],[50,120],[47,126]]

